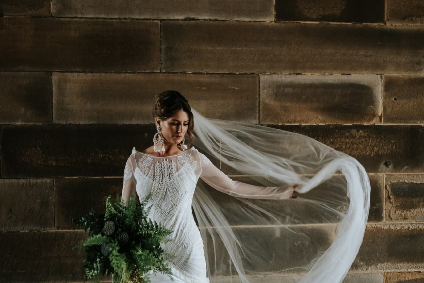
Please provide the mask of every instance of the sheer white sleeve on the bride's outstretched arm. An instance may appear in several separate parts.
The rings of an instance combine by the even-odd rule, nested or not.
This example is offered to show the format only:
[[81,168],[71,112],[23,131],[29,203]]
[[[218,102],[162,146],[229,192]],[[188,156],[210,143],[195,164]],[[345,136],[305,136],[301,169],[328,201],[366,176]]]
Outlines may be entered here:
[[220,192],[248,199],[289,199],[293,194],[291,187],[264,187],[233,180],[213,165],[204,154],[199,152],[199,155],[199,178]]

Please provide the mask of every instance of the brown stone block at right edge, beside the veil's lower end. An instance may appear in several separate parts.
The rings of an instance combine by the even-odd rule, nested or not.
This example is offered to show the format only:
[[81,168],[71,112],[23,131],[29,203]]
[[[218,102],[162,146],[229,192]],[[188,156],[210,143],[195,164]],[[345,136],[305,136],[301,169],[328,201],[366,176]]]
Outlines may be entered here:
[[424,224],[367,224],[351,271],[424,268]]

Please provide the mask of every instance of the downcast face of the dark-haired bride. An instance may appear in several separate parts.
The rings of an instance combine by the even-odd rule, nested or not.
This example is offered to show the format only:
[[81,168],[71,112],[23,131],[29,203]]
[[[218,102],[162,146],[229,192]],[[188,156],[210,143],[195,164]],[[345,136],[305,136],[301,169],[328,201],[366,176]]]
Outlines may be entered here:
[[156,118],[156,126],[162,127],[161,132],[166,143],[181,143],[187,132],[188,123],[189,115],[183,109],[180,109],[167,120],[162,121]]

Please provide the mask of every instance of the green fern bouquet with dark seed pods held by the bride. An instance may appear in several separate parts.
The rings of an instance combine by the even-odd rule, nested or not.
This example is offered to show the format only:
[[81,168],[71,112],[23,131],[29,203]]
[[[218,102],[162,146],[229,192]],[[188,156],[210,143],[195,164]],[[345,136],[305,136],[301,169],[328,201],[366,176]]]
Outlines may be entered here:
[[112,283],[150,283],[148,274],[153,270],[167,274],[173,281],[171,269],[165,258],[173,258],[162,247],[162,243],[171,241],[168,235],[173,230],[167,229],[156,221],[147,219],[151,207],[146,207],[150,194],[136,203],[132,195],[127,205],[116,195],[106,197],[106,212],[95,214],[94,209],[81,217],[72,219],[73,224],[89,231],[89,237],[73,249],[84,248],[84,282],[93,278],[100,282],[100,274],[112,272]]

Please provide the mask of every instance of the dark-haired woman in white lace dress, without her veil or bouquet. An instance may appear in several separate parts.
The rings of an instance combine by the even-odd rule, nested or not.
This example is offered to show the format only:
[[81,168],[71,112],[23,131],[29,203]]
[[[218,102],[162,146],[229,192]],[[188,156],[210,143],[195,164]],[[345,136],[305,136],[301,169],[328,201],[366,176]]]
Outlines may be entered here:
[[[176,254],[176,258],[167,260],[174,282],[209,282],[203,241],[191,211],[197,179],[202,178],[223,193],[245,198],[297,198],[293,195],[296,186],[262,187],[232,180],[194,146],[185,146],[185,134],[192,140],[193,114],[184,96],[166,91],[156,95],[155,105],[158,132],[153,137],[154,145],[143,151],[134,148],[128,157],[122,199],[127,203],[133,194],[141,199],[151,193],[149,218],[173,229],[173,241],[165,249]],[[151,280],[170,281],[167,275],[154,274]]]

